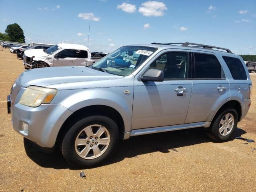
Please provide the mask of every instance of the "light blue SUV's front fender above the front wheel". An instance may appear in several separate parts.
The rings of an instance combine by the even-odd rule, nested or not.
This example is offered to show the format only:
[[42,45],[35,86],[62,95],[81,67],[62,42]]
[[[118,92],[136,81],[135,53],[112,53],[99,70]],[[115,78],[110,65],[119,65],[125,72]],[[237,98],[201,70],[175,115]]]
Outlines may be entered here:
[[[129,90],[125,94],[124,90]],[[52,104],[60,104],[75,112],[81,108],[93,105],[104,105],[114,108],[124,121],[124,131],[132,127],[133,87],[110,87],[80,90],[59,90]]]

